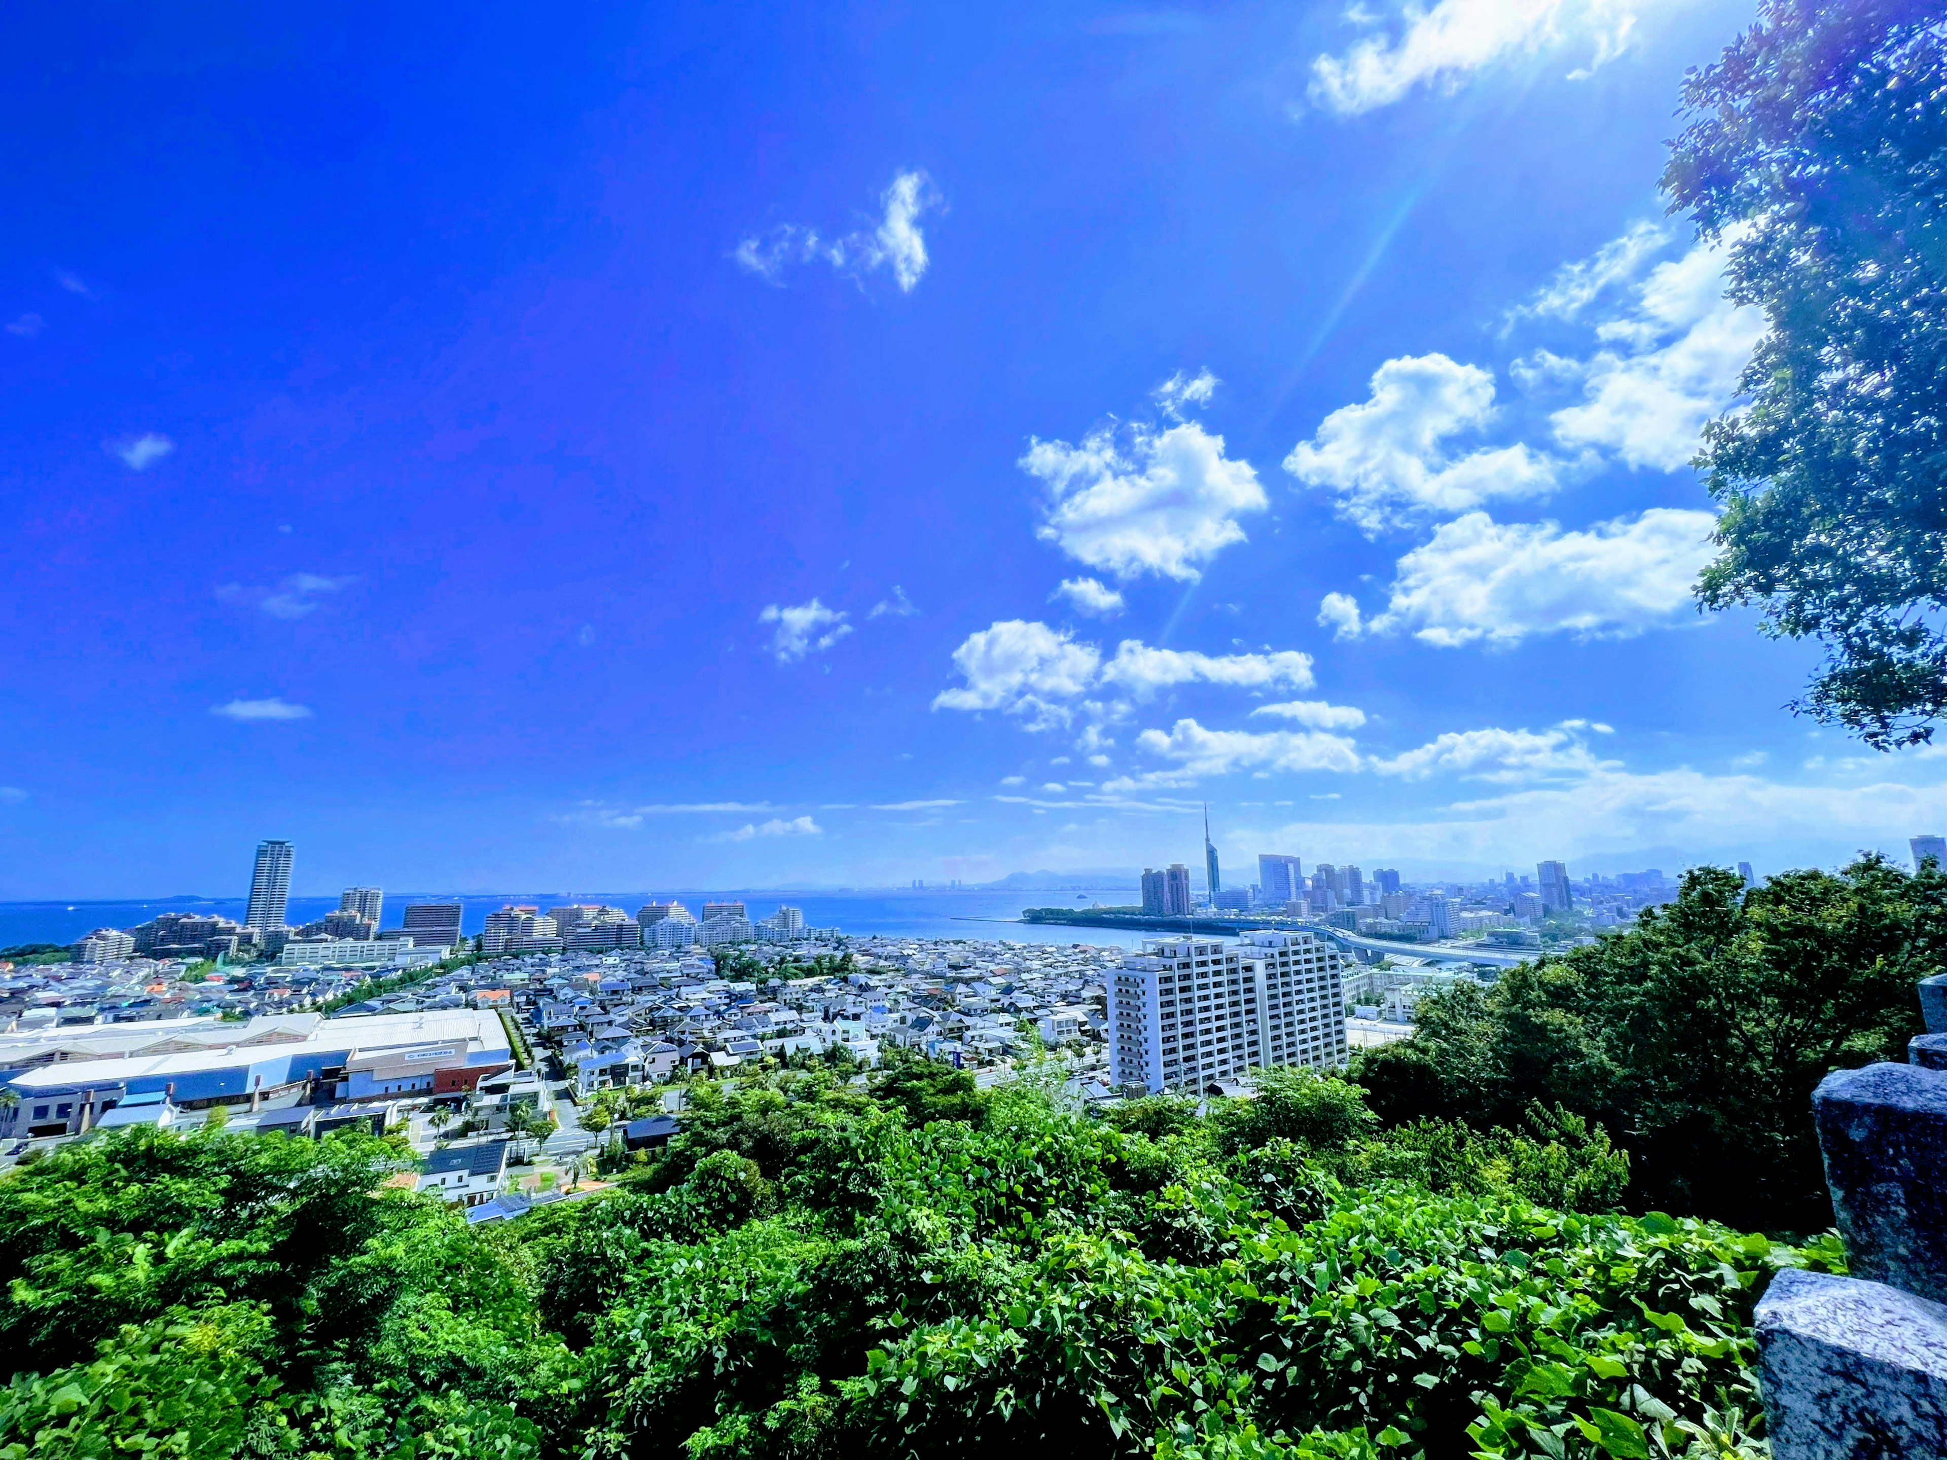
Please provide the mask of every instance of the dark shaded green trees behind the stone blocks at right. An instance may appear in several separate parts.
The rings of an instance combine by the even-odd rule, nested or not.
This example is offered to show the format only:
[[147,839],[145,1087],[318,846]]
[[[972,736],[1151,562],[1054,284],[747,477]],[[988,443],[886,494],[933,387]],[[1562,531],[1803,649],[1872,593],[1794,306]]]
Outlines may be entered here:
[[1700,868],[1595,946],[1421,999],[1412,1040],[1355,1078],[1388,1123],[1509,1123],[1540,1102],[1630,1150],[1628,1203],[1770,1232],[1830,1224],[1811,1092],[1906,1059],[1914,983],[1947,967],[1947,876],[1867,857],[1743,890]]

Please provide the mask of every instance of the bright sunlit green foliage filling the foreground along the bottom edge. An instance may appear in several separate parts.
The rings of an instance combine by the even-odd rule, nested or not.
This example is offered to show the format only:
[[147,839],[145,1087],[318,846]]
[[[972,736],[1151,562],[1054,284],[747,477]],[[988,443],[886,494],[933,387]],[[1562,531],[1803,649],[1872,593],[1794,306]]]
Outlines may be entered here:
[[1606,1213],[1573,1112],[1049,1088],[699,1084],[483,1228],[372,1137],[95,1137],[0,1180],[0,1456],[1760,1454],[1750,1306],[1815,1256]]

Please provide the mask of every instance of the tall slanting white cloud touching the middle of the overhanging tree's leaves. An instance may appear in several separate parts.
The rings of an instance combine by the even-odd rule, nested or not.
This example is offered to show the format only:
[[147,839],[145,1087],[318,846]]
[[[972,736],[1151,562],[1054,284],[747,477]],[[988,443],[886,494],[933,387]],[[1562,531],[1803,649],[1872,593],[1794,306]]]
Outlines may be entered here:
[[1764,329],[1762,310],[1723,296],[1721,247],[1659,263],[1632,306],[1598,325],[1608,348],[1583,362],[1583,403],[1556,411],[1556,440],[1676,471],[1731,405]]

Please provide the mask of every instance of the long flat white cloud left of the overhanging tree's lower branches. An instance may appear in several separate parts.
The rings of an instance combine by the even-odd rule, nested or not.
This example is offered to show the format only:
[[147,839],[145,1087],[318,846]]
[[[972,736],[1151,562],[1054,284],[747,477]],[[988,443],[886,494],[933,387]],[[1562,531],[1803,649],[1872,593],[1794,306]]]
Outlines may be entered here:
[[1443,648],[1528,635],[1624,639],[1672,623],[1711,557],[1709,512],[1651,508],[1563,531],[1470,512],[1400,559],[1373,633],[1410,631]]

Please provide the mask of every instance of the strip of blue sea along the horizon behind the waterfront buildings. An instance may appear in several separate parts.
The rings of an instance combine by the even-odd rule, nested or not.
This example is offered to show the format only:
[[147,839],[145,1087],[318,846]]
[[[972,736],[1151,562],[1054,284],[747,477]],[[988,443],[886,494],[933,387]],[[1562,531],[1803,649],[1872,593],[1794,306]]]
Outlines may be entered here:
[[[434,894],[428,894],[428,899]],[[487,913],[504,903],[533,903],[543,911],[569,901],[600,901],[633,913],[650,897],[668,901],[672,894],[619,894],[619,892],[520,892],[495,894],[491,897],[461,897],[461,927],[465,932],[479,932],[487,923]],[[1135,948],[1141,934],[1112,932],[1108,929],[1059,929],[1044,925],[1016,923],[1022,907],[1088,907],[1102,901],[1110,905],[1129,905],[1137,894],[1129,888],[1114,892],[678,892],[674,894],[691,913],[703,911],[703,901],[730,899],[742,901],[752,919],[769,917],[779,903],[804,909],[804,921],[812,927],[835,927],[843,932],[896,934],[907,938],[1012,938],[1016,942],[1092,942],[1098,946]],[[415,895],[386,897],[386,923],[395,927],[399,909],[415,901]],[[286,917],[310,923],[339,905],[337,897],[292,897]],[[121,903],[0,903],[0,948],[21,942],[72,942],[99,927],[130,929],[146,923],[156,913],[222,913],[243,919],[243,899],[191,901],[169,897],[160,901],[121,901]]]

